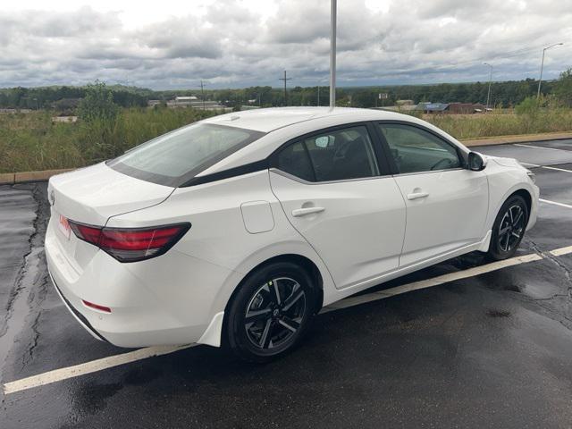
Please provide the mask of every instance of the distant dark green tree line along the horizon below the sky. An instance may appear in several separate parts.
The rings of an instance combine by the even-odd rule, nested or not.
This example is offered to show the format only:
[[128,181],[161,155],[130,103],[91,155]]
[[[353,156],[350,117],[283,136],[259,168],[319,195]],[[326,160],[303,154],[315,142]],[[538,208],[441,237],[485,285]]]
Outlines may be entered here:
[[[393,85],[369,87],[345,87],[336,90],[336,105],[352,107],[381,107],[395,105],[398,100],[412,100],[413,103],[486,103],[488,82],[441,83],[434,85]],[[114,104],[122,107],[145,106],[148,100],[166,102],[176,96],[197,96],[196,89],[156,91],[147,88],[114,85],[111,89]],[[513,107],[527,97],[534,97],[538,80],[507,80],[492,82],[491,105]],[[74,108],[66,105],[66,100],[86,97],[88,87],[44,87],[44,88],[0,88],[0,108],[28,108],[65,110]],[[380,99],[379,94],[387,98]],[[558,80],[543,81],[542,94],[556,97],[572,106],[572,69],[560,74]],[[319,97],[318,97],[319,95]],[[262,107],[280,105],[328,105],[329,87],[300,87],[287,89],[257,86],[240,89],[209,89],[204,92],[208,101],[216,101],[226,106],[240,108],[241,105]]]

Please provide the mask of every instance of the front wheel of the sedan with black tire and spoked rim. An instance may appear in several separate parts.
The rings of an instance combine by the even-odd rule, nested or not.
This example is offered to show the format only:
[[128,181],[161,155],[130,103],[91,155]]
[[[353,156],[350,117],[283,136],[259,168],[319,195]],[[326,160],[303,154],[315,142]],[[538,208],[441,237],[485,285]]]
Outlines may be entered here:
[[514,257],[528,224],[525,198],[513,195],[501,206],[492,225],[491,245],[487,256],[495,261]]

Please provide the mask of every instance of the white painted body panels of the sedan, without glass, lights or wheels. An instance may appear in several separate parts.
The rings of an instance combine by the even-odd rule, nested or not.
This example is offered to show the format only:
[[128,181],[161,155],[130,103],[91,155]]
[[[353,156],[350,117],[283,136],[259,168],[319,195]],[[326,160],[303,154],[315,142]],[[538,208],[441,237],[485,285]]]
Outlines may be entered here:
[[[442,130],[401,114],[264,109],[204,122],[266,134],[197,177],[264,160],[307,132],[368,121],[422,125],[468,153]],[[486,251],[495,216],[517,189],[532,197],[532,227],[538,188],[526,169],[512,161],[487,160],[482,172],[458,169],[321,183],[266,168],[180,188],[97,164],[49,182],[48,195],[53,192],[55,203],[46,232],[48,268],[66,305],[85,318],[80,323],[87,326],[87,321],[115,345],[218,346],[233,291],[273,257],[311,261],[321,277],[322,304],[328,305],[450,257]],[[409,199],[410,194],[422,196]],[[164,255],[121,263],[73,233],[63,233],[60,215],[114,228],[192,226]],[[86,307],[84,300],[112,312]]]

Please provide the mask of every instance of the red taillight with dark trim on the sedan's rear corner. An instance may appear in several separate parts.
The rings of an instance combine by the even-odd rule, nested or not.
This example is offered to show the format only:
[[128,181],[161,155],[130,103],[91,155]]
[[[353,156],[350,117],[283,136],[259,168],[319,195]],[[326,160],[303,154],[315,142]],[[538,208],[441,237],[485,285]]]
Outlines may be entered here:
[[68,220],[75,236],[120,262],[135,262],[163,255],[189,231],[190,223],[152,228],[102,228]]

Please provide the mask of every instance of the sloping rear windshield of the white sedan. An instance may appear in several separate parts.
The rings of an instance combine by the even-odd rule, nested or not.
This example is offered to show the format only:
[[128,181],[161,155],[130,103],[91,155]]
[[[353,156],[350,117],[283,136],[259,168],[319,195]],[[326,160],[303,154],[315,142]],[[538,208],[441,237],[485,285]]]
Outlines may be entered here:
[[107,162],[118,172],[166,186],[181,186],[264,132],[196,123],[134,147]]

